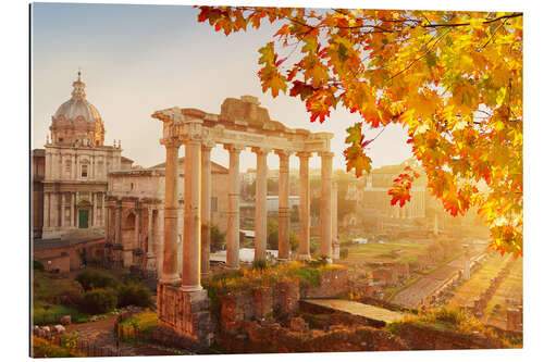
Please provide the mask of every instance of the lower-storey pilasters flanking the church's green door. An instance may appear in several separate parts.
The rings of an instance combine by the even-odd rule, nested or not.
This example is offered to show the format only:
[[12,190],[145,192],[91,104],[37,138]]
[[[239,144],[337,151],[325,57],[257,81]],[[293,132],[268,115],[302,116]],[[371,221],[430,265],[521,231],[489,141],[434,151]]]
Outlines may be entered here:
[[[89,215],[89,226],[91,227],[104,225],[104,192],[91,192],[90,203],[92,204],[92,210]],[[101,209],[100,217],[98,217],[99,202]],[[66,204],[70,204],[70,211],[66,211]],[[69,219],[69,222],[66,222],[66,219]],[[44,227],[79,227],[79,219],[77,217],[77,192],[44,194]]]

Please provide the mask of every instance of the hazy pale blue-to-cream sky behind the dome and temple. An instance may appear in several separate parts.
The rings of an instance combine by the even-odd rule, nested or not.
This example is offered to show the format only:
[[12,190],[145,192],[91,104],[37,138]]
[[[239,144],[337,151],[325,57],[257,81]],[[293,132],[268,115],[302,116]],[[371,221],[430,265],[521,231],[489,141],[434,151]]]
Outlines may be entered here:
[[[299,99],[262,93],[257,50],[270,41],[276,27],[265,22],[259,30],[225,37],[198,23],[197,14],[197,9],[184,5],[35,3],[32,147],[44,147],[51,115],[70,99],[81,67],[87,99],[106,125],[106,143],[121,139],[123,155],[136,164],[151,166],[164,161],[165,149],[159,143],[161,122],[150,116],[156,110],[177,105],[220,113],[225,98],[252,95],[273,120],[288,127],[334,133],[334,167],[345,168],[345,128],[357,116],[338,109],[325,123],[312,124]],[[369,136],[375,133],[369,132]],[[370,150],[373,166],[409,158],[406,139],[403,128],[387,126]],[[212,151],[212,159],[228,165],[222,147]],[[274,154],[268,162],[271,168],[279,165]],[[298,166],[296,157],[290,162]],[[242,168],[255,165],[255,154],[244,151]],[[310,165],[320,165],[317,155]]]

